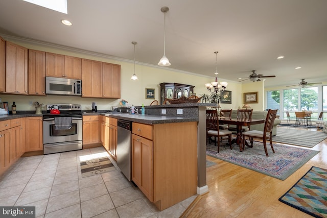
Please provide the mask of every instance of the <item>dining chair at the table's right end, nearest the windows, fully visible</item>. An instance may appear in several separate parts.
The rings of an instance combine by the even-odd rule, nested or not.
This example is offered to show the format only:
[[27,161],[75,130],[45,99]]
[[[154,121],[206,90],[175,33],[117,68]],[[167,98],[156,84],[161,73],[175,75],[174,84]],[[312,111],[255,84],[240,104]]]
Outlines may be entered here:
[[264,144],[264,149],[265,149],[265,153],[266,156],[268,157],[268,151],[267,151],[267,140],[269,140],[270,142],[270,147],[273,153],[275,153],[274,148],[272,146],[272,127],[274,125],[274,120],[276,118],[276,114],[277,114],[277,110],[271,110],[269,109],[267,112],[267,116],[266,116],[266,120],[265,120],[265,127],[264,127],[264,131],[259,131],[259,130],[250,130],[247,132],[244,132],[242,134],[242,142],[243,142],[243,151],[244,151],[244,147],[245,147],[245,138],[248,137],[250,142],[251,142],[251,147],[253,147],[253,141],[254,138],[256,139],[261,139],[262,141],[259,142],[263,142]]

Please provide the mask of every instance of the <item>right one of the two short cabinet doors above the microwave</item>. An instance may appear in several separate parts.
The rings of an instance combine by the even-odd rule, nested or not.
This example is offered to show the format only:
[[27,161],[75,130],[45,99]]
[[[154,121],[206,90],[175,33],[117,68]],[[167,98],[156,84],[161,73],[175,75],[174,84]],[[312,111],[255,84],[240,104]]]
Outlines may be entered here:
[[71,79],[82,79],[82,59],[65,56],[64,76]]

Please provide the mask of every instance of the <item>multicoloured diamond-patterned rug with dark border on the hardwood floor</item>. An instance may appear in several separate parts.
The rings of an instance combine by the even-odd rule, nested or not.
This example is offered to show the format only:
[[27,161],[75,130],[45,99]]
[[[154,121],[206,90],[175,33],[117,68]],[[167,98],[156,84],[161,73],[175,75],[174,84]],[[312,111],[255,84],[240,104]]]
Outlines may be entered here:
[[314,217],[327,217],[327,170],[312,166],[278,200]]

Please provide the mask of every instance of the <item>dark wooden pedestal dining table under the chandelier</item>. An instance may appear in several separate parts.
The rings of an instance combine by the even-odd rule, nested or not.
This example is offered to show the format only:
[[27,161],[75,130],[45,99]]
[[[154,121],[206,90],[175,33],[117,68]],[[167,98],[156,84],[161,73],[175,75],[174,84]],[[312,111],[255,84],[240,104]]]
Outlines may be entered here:
[[[243,144],[242,144],[242,129],[243,126],[251,126],[255,124],[263,124],[265,123],[265,119],[233,119],[229,118],[226,119],[226,117],[219,118],[219,124],[227,124],[227,125],[235,125],[237,129],[236,133],[236,139],[232,140],[232,143],[235,143],[240,146],[240,152],[243,151]],[[246,146],[250,147],[247,143]]]

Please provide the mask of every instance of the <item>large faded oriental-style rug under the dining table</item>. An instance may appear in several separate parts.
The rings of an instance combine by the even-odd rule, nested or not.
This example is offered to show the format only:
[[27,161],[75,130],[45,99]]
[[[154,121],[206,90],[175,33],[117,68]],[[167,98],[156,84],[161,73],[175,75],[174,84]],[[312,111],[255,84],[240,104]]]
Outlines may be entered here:
[[210,144],[207,145],[206,154],[280,180],[285,180],[319,153],[319,151],[281,144],[273,144],[273,147],[275,154],[272,153],[270,144],[267,144],[269,154],[269,157],[267,157],[263,143],[254,142],[253,148],[245,147],[244,151],[240,152],[238,146],[234,145],[233,149],[230,150],[229,146],[225,146],[225,143],[222,142],[219,153],[217,153],[217,146]]

